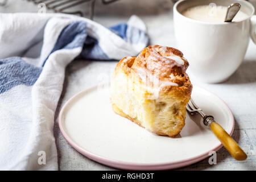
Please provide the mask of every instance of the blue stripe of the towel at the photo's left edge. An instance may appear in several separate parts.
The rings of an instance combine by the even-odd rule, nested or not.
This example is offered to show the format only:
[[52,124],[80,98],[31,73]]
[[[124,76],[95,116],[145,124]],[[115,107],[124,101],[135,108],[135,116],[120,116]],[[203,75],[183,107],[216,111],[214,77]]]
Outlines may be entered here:
[[0,94],[16,85],[34,85],[42,68],[26,63],[20,57],[0,60]]

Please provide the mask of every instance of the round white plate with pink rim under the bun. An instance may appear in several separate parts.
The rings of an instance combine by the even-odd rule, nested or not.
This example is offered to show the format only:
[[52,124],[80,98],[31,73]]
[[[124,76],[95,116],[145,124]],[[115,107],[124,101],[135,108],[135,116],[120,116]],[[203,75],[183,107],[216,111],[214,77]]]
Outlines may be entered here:
[[[229,107],[207,90],[193,86],[192,98],[205,114],[231,135],[234,118]],[[73,96],[61,109],[59,126],[65,139],[81,154],[121,169],[171,169],[199,162],[222,145],[199,115],[186,115],[175,137],[160,137],[114,113],[109,86],[94,86]]]

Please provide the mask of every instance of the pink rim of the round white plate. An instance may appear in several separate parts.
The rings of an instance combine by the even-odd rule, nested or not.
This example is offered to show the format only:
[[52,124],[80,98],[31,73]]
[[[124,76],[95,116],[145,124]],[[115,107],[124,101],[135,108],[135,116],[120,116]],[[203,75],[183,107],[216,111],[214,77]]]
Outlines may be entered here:
[[[64,138],[68,141],[68,143],[75,148],[77,151],[79,151],[82,155],[86,156],[89,159],[92,159],[98,163],[105,164],[106,166],[114,167],[114,168],[119,168],[119,169],[126,169],[126,170],[164,170],[164,169],[175,169],[175,168],[180,168],[184,166],[188,166],[194,163],[199,162],[200,160],[203,160],[209,156],[209,151],[218,151],[222,147],[222,144],[218,144],[218,146],[214,147],[212,150],[209,150],[205,152],[204,154],[197,155],[193,158],[188,158],[188,159],[183,159],[179,160],[177,162],[167,162],[167,163],[131,163],[131,162],[122,162],[119,160],[113,160],[113,159],[108,159],[105,157],[102,157],[100,155],[93,154],[92,152],[89,152],[85,150],[84,148],[80,147],[78,144],[73,142],[73,140],[69,137],[69,135],[65,132],[64,126],[63,126],[63,113],[65,110],[65,107],[67,107],[76,97],[79,97],[81,94],[84,94],[86,92],[89,92],[92,89],[97,88],[98,85],[92,86],[88,89],[82,90],[81,92],[75,94],[75,96],[69,98],[69,100],[64,104],[64,106],[60,110],[59,114],[59,127],[60,131],[63,134]],[[210,94],[213,94],[212,92],[200,88],[197,86],[197,88],[205,90],[206,92],[209,92]],[[216,94],[213,94],[213,96],[216,96]],[[228,105],[221,100],[220,97],[216,96],[220,101],[223,102],[223,104],[226,106],[226,108],[229,111],[229,116],[232,118],[232,129],[230,131],[227,131],[227,133],[231,136],[234,131],[234,117],[232,114],[232,111],[229,109]]]

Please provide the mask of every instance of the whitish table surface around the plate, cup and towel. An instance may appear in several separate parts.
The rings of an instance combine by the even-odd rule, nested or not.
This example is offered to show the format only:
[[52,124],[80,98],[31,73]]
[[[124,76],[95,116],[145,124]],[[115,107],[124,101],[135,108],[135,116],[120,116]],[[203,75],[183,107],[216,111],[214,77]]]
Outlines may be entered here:
[[[13,3],[13,4],[12,4]],[[32,3],[9,0],[6,7],[0,7],[2,12],[30,11],[38,9]],[[22,6],[22,9],[19,7]],[[81,7],[83,9],[84,7]],[[51,11],[47,11],[51,12]],[[172,3],[168,0],[130,0],[119,1],[104,6],[96,3],[94,20],[105,26],[110,26],[129,19],[137,14],[147,25],[150,44],[175,47],[174,28],[172,25]],[[189,60],[188,60],[189,61]],[[63,138],[57,125],[57,116],[61,106],[77,92],[96,85],[102,80],[99,74],[110,76],[117,61],[86,61],[75,60],[68,65],[64,90],[55,114],[55,137],[59,155],[60,170],[115,170],[96,163],[73,149]],[[238,162],[234,160],[225,148],[217,152],[217,164],[210,165],[208,158],[178,170],[255,170],[256,169],[256,46],[250,42],[245,59],[238,70],[221,84],[203,84],[192,79],[194,85],[199,85],[217,94],[228,104],[236,120],[232,137],[245,150],[248,158]]]

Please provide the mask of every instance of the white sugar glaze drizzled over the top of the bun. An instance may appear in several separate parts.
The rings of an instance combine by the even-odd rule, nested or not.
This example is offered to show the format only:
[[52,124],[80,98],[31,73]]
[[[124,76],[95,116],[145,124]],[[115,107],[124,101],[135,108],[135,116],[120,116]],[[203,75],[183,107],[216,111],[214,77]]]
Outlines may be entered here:
[[[171,69],[175,66],[181,67],[181,70],[185,72],[187,69],[184,65],[185,59],[175,55],[167,47],[151,46],[147,51],[147,55],[143,53],[138,55],[134,67],[135,72],[141,77],[144,84],[160,89],[165,86],[179,86],[172,82],[175,76],[171,73]],[[136,65],[137,61],[138,66]]]

